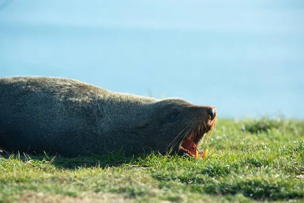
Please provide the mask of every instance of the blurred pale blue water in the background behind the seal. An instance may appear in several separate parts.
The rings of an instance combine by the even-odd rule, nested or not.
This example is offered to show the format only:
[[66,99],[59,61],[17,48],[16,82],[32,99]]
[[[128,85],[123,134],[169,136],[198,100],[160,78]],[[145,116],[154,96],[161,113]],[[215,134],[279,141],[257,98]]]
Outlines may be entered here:
[[183,97],[219,117],[304,118],[303,22],[304,2],[290,0],[15,0],[0,7],[0,77]]

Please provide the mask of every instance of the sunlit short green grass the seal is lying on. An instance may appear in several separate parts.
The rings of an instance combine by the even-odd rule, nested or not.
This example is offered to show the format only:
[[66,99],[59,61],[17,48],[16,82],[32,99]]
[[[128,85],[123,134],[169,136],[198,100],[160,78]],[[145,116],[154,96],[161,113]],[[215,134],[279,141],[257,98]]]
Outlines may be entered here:
[[304,121],[218,120],[208,149],[201,160],[2,153],[0,202],[304,202]]

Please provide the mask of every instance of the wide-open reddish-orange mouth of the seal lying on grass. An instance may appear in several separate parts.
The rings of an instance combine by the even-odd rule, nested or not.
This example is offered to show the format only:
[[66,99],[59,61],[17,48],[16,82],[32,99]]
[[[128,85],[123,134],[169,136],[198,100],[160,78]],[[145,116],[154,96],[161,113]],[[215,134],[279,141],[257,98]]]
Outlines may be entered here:
[[197,144],[200,142],[200,140],[204,137],[204,134],[208,130],[202,130],[202,131],[193,131],[188,134],[186,138],[184,138],[180,145],[180,150],[182,150],[185,154],[188,156],[193,156],[196,159],[199,157],[203,157],[207,155],[207,151],[205,153],[202,153],[198,147]]

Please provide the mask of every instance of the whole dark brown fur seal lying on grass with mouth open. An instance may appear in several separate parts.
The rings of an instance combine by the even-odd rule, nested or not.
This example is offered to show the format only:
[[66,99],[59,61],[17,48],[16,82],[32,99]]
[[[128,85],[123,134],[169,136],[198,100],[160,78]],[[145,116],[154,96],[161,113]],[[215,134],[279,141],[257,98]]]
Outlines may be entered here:
[[215,107],[112,92],[66,78],[0,78],[0,148],[66,157],[124,151],[197,156]]

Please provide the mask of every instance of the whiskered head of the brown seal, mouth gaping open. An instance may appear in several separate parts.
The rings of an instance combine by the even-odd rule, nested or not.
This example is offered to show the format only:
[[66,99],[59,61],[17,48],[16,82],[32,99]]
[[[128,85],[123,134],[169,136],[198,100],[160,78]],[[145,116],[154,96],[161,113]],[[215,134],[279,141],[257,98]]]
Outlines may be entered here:
[[198,157],[203,153],[197,145],[215,125],[215,107],[195,106],[179,98],[167,98],[151,104],[153,112],[141,125],[149,134],[143,145],[159,151]]

